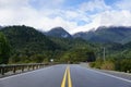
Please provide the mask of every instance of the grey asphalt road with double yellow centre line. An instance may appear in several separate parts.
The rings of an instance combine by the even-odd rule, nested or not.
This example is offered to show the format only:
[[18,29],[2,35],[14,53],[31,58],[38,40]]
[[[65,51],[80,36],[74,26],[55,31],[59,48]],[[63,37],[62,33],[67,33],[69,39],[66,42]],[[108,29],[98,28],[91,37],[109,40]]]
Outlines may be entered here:
[[131,80],[75,64],[60,64],[0,78],[0,87],[131,87]]

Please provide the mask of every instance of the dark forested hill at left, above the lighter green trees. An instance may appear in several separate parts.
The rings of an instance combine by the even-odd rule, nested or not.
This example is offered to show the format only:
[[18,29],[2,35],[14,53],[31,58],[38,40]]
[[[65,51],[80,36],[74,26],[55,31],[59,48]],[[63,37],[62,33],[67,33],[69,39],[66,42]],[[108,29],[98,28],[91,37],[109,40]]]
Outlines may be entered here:
[[27,26],[8,26],[2,32],[9,39],[14,50],[28,50],[43,52],[44,50],[56,50],[57,45],[48,39],[43,33]]

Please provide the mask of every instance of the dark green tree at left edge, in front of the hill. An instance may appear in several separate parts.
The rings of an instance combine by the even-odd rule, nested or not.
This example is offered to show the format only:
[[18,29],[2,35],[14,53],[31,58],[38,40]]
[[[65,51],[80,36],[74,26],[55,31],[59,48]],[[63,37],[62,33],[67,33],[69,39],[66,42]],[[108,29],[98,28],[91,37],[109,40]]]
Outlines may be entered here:
[[10,44],[5,36],[0,33],[0,64],[7,64],[10,58]]

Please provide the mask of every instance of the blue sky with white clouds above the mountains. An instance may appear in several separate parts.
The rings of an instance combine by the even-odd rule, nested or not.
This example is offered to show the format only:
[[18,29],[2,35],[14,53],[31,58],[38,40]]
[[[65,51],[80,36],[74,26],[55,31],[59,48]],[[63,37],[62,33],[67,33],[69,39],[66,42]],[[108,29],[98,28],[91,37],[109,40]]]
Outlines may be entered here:
[[26,25],[70,34],[98,26],[131,26],[130,0],[0,0],[0,25]]

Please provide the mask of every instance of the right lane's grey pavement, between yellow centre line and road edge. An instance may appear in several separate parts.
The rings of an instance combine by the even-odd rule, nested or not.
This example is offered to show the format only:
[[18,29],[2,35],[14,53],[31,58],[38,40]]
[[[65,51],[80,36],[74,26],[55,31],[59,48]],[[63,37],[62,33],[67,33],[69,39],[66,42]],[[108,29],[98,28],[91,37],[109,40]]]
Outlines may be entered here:
[[131,87],[131,82],[118,79],[91,69],[72,65],[70,70],[73,87]]

